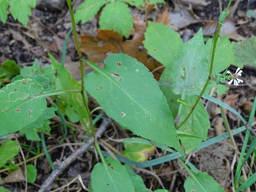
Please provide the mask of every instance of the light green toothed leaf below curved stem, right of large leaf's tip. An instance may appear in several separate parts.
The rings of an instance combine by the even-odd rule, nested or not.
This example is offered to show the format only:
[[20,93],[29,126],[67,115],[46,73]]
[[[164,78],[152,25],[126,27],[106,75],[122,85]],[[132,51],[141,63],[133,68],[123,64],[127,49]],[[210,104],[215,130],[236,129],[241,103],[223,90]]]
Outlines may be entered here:
[[[197,96],[192,95],[185,99],[189,105],[194,105]],[[181,106],[179,124],[186,118],[190,111],[187,106]],[[199,147],[203,140],[207,138],[208,129],[211,127],[210,116],[204,108],[203,103],[199,101],[192,115],[188,120],[180,127],[179,131],[183,131],[192,135],[196,135],[201,138],[191,138],[191,137],[179,137],[182,145],[185,148],[185,153],[188,154],[192,152],[195,148]]]

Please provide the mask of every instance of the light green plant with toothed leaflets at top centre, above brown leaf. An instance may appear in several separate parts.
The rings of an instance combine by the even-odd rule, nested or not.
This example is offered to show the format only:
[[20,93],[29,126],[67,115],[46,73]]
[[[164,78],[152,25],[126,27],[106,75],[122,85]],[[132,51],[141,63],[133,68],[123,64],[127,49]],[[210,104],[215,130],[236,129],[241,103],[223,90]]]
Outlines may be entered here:
[[104,6],[100,13],[100,28],[115,30],[121,36],[128,38],[133,28],[133,20],[131,10],[126,3],[142,9],[146,4],[165,2],[164,0],[84,0],[75,12],[76,23],[79,21],[85,23]]

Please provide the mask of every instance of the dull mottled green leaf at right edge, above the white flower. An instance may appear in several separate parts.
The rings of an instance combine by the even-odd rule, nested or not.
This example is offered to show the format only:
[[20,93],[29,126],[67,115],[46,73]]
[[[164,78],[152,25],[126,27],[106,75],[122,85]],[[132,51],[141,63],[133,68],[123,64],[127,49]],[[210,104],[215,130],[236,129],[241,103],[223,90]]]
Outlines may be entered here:
[[256,36],[244,41],[233,43],[235,53],[234,65],[243,68],[244,65],[256,66]]

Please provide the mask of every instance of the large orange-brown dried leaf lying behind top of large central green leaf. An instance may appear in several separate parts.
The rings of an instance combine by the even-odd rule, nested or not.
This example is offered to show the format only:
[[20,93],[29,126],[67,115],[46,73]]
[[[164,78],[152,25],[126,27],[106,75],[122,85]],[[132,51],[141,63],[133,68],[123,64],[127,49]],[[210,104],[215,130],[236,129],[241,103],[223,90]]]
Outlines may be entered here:
[[[133,18],[133,20],[132,39],[124,41],[113,30],[97,30],[98,38],[88,35],[80,36],[81,51],[86,53],[89,60],[92,60],[94,63],[103,61],[111,53],[123,52],[142,62],[150,71],[160,67],[161,64],[159,62],[148,56],[147,50],[142,44],[147,21],[140,20],[139,18]],[[162,70],[160,69],[154,73],[156,79],[160,78]]]

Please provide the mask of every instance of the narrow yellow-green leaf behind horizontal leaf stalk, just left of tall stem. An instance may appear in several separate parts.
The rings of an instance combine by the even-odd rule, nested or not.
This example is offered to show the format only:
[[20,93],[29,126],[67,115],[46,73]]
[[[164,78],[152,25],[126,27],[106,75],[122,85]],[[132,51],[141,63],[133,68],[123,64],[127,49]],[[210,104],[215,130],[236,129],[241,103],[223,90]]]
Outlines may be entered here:
[[[81,84],[70,75],[69,71],[64,66],[62,66],[51,54],[49,54],[49,57],[58,75],[56,79],[56,89],[81,90]],[[86,100],[88,100],[87,95],[85,95],[85,97]],[[76,114],[80,117],[80,120],[88,117],[81,93],[67,93],[58,96],[58,98],[65,104],[66,108],[71,108],[71,110],[73,110],[72,115]],[[70,115],[70,111],[68,111],[68,115]],[[72,117],[71,120],[74,120]]]

